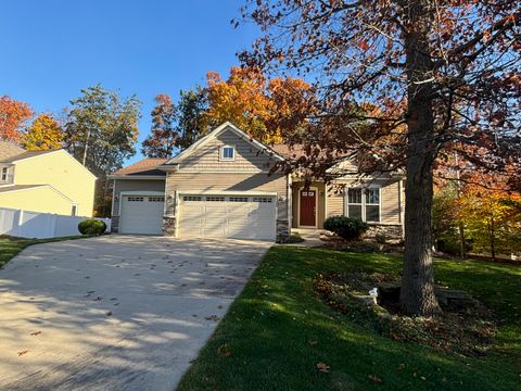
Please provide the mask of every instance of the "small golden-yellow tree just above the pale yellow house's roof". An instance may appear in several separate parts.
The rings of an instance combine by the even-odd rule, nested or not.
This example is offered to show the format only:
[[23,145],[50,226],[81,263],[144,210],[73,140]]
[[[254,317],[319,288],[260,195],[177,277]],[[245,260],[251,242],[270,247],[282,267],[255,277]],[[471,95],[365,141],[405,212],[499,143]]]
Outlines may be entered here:
[[22,144],[28,151],[62,148],[63,129],[51,114],[38,115],[23,134]]

